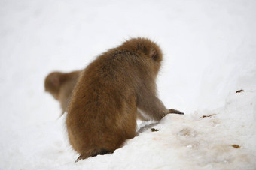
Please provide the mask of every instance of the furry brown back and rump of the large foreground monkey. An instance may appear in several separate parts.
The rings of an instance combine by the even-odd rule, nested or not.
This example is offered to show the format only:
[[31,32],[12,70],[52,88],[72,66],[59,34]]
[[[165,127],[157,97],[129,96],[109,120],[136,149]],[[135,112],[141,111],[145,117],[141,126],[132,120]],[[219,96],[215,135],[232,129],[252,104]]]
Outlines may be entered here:
[[138,55],[112,49],[82,73],[66,119],[69,141],[84,157],[114,151],[136,133],[136,91],[147,67]]

